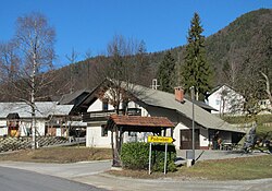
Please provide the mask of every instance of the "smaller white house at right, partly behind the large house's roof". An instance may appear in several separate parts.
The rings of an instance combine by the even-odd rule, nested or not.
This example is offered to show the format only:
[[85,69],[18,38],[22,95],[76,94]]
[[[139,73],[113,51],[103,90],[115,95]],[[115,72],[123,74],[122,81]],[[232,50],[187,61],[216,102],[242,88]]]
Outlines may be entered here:
[[207,104],[219,115],[243,115],[244,97],[227,85],[214,88],[208,97]]

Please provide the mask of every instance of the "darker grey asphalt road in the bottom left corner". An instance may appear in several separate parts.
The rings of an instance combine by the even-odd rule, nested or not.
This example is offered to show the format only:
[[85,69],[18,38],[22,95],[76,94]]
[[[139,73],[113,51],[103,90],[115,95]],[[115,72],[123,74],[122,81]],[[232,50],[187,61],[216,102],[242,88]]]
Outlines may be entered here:
[[92,186],[40,175],[22,169],[0,167],[0,191],[106,191]]

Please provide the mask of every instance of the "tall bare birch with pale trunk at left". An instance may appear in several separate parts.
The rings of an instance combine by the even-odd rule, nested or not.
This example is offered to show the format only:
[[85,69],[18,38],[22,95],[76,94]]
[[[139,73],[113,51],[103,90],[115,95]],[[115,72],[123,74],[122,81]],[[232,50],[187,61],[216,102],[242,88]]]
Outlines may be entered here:
[[[1,75],[3,85],[16,92],[5,94],[32,107],[33,148],[36,148],[35,102],[48,97],[46,91],[49,92],[49,86],[53,82],[54,40],[54,28],[48,24],[45,15],[30,13],[20,16],[13,39],[13,51],[16,55],[10,55],[10,60],[1,64],[1,71],[5,71],[5,75]],[[16,58],[15,61],[13,58]],[[12,77],[9,75],[11,73]]]

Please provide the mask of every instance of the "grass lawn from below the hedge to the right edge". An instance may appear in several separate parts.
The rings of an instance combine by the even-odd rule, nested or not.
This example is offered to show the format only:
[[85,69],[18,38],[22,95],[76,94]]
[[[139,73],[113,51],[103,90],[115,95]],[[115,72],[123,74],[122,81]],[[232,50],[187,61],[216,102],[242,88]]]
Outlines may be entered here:
[[163,178],[174,179],[210,179],[210,180],[249,180],[272,178],[272,156],[255,156],[221,160],[198,162],[191,168],[181,167],[176,172],[154,172],[148,175],[148,170],[122,170],[110,171],[116,176],[127,176],[132,178]]

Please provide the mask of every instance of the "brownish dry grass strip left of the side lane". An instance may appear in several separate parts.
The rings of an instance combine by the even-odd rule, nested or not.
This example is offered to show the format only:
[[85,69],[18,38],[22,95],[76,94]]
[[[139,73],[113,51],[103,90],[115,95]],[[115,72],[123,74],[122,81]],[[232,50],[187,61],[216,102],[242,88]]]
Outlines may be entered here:
[[0,160],[35,162],[35,163],[75,163],[83,160],[101,160],[112,158],[111,150],[90,147],[51,147],[23,150],[1,153]]

